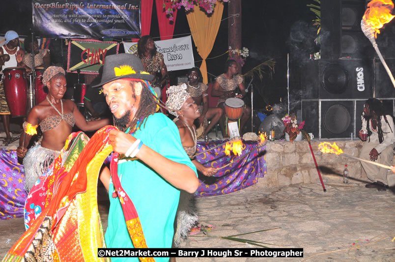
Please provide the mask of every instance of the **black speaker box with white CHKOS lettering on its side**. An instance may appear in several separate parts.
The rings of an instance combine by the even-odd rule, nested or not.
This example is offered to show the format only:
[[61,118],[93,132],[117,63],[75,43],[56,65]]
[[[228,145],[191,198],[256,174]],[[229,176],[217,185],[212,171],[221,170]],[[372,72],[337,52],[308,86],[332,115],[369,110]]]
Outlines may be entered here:
[[373,95],[371,60],[310,60],[302,70],[302,99],[359,99]]

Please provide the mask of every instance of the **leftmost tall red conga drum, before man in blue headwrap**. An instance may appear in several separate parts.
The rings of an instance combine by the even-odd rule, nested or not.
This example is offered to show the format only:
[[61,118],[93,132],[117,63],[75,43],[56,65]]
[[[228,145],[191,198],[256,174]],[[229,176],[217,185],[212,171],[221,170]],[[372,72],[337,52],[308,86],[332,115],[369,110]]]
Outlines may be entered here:
[[26,116],[28,84],[24,67],[9,67],[3,70],[5,99],[11,116]]

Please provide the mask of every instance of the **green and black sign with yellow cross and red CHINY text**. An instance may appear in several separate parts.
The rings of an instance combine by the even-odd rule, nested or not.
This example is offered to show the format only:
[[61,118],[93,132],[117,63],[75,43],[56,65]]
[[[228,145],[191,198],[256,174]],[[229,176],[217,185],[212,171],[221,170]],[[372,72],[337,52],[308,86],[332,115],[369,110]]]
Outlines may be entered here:
[[98,74],[107,55],[118,53],[117,42],[72,39],[69,43],[67,72],[80,70],[84,74]]

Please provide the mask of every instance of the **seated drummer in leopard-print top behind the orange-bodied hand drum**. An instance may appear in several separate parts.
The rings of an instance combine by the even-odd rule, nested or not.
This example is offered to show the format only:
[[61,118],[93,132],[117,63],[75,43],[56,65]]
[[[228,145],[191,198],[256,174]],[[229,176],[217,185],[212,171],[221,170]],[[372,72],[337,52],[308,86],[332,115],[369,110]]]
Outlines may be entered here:
[[[240,94],[235,92],[237,86],[240,89]],[[225,101],[228,98],[236,97],[243,99],[247,95],[244,79],[237,72],[237,62],[235,60],[227,60],[225,64],[225,73],[215,79],[213,88],[211,89],[211,96],[219,97],[218,107],[225,111]],[[245,105],[243,114],[240,119],[240,134],[243,135],[243,127],[251,115],[251,107]],[[220,119],[220,127],[224,138],[228,138],[225,132],[225,116],[224,114]]]

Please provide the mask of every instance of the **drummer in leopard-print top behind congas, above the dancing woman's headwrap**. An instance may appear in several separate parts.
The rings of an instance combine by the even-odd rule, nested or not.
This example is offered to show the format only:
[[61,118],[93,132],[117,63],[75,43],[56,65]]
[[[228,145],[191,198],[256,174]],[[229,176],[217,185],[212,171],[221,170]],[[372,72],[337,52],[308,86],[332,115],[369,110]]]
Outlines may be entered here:
[[[33,43],[31,42],[33,41]],[[27,37],[25,39],[25,50],[26,54],[23,56],[21,65],[26,68],[29,72],[33,68],[33,57],[31,55],[34,52],[34,67],[47,68],[51,64],[51,56],[48,49],[38,49],[37,38]],[[34,50],[34,51],[33,51]]]

